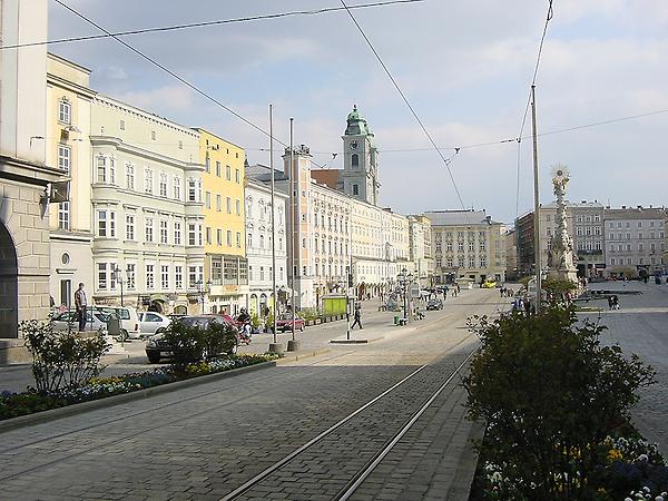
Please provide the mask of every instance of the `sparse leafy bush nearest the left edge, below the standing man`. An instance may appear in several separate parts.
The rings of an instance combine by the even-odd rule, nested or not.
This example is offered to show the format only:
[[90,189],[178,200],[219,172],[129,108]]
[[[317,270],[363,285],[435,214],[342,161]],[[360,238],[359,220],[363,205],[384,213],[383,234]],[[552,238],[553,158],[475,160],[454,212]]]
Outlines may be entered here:
[[102,355],[111,347],[100,332],[81,337],[71,331],[53,332],[50,323],[23,321],[19,331],[32,355],[32,375],[38,392],[73,390],[104,369]]

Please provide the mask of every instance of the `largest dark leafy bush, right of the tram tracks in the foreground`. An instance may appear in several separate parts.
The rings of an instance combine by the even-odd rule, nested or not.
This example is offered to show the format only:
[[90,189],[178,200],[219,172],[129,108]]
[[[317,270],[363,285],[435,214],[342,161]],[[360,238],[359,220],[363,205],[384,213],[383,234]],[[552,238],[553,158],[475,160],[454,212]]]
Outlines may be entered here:
[[497,499],[596,499],[603,443],[629,419],[654,370],[619,346],[601,346],[605,327],[577,324],[572,310],[503,315],[470,324],[482,341],[463,385],[472,419],[487,421],[485,468]]

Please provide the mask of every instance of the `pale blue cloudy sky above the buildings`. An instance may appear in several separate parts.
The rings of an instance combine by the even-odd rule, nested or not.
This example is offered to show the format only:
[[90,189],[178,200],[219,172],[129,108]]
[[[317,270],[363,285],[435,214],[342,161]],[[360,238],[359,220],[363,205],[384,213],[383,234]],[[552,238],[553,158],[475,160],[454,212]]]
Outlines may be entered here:
[[[337,0],[62,1],[110,31],[341,7]],[[307,145],[322,167],[342,167],[341,136],[357,105],[380,150],[383,206],[402,214],[475,207],[512,223],[533,207],[531,114],[519,147],[514,139],[547,11],[548,0],[424,0],[353,10],[434,143],[448,148],[455,185],[345,11],[124,40],[262,129],[268,130],[273,104],[277,139],[288,141],[293,117],[295,144]],[[98,33],[49,1],[49,39]],[[210,129],[244,147],[250,164],[268,164],[264,134],[114,39],[57,43],[49,51],[89,68],[94,89]],[[665,0],[553,1],[536,82],[541,202],[553,198],[551,169],[563,164],[571,200],[668,205],[667,53]],[[275,163],[282,165],[281,151]]]

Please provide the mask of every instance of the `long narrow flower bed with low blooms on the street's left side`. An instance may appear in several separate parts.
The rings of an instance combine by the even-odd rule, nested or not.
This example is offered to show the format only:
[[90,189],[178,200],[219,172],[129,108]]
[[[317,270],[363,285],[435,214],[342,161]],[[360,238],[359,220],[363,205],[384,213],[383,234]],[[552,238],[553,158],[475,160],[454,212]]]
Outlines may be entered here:
[[91,377],[85,384],[71,390],[38,392],[31,389],[22,393],[2,392],[0,393],[0,420],[130,393],[202,375],[216,374],[276,358],[278,358],[276,354],[236,355],[212,362],[190,364],[186,366],[184,372],[176,372],[170,367],[159,367],[153,371],[118,376]]

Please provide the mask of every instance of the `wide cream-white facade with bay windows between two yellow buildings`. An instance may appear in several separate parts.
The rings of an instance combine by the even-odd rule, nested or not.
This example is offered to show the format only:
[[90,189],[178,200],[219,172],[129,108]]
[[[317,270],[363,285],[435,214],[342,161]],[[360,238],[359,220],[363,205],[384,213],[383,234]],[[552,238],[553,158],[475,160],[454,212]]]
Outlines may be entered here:
[[104,96],[94,99],[91,116],[94,301],[199,311],[198,134]]

